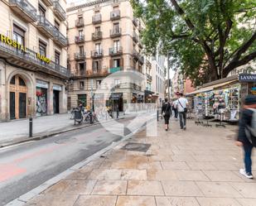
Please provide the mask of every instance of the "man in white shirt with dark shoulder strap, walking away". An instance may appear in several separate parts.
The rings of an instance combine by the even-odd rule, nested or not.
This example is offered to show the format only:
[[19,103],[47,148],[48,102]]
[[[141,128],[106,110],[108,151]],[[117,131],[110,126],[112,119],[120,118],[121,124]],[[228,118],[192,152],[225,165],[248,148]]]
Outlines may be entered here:
[[179,118],[180,118],[180,126],[181,129],[186,130],[186,107],[188,101],[183,97],[183,93],[179,93],[179,98],[176,100],[176,107],[178,109]]

